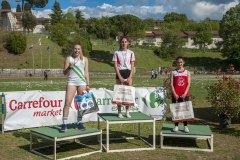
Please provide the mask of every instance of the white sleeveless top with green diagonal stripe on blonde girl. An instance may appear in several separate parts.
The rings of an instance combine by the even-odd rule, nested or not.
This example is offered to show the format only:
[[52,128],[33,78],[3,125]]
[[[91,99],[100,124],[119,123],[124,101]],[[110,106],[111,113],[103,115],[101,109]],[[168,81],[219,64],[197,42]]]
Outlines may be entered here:
[[[75,61],[72,56],[69,56],[70,63],[75,65],[77,68],[81,70],[83,73],[83,76],[85,76],[84,68],[85,68],[85,58],[83,60],[79,59],[78,61]],[[86,85],[86,82],[84,82],[81,78],[78,77],[78,75],[71,69],[68,75],[68,85],[74,85],[74,86],[81,86]]]

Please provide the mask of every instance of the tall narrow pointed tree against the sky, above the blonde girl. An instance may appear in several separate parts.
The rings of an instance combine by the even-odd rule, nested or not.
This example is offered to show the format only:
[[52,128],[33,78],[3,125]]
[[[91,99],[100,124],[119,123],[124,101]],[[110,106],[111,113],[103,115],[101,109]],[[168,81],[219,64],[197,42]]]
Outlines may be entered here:
[[51,13],[49,16],[51,18],[51,24],[54,25],[56,23],[59,23],[63,17],[60,4],[57,1],[54,2],[52,11],[53,13]]

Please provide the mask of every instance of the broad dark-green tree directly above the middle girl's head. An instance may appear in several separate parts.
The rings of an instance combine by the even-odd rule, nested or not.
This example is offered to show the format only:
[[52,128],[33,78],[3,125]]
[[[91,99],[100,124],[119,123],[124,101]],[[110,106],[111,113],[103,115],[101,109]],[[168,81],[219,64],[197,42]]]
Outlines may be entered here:
[[117,28],[117,31],[122,32],[124,36],[127,36],[130,32],[137,32],[144,29],[142,20],[131,14],[116,15],[110,19],[112,24]]

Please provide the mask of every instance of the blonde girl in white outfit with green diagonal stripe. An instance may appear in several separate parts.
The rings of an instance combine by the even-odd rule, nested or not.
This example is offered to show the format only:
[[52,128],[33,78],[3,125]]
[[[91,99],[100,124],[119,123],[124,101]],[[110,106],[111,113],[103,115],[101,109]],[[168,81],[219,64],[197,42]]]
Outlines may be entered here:
[[[73,54],[66,58],[63,74],[68,75],[68,82],[63,108],[63,125],[60,131],[65,132],[67,130],[69,107],[76,92],[80,95],[83,91],[89,90],[88,59],[83,56],[83,50],[80,44],[75,44]],[[78,123],[78,128],[81,129],[84,127],[81,123]]]

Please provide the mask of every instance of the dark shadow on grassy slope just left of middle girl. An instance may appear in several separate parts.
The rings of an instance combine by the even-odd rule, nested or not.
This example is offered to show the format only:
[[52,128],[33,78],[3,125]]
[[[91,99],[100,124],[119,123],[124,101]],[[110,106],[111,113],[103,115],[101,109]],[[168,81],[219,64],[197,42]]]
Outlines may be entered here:
[[93,50],[92,52],[90,52],[90,57],[96,62],[105,63],[113,67],[113,54],[111,54],[109,51]]

